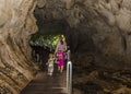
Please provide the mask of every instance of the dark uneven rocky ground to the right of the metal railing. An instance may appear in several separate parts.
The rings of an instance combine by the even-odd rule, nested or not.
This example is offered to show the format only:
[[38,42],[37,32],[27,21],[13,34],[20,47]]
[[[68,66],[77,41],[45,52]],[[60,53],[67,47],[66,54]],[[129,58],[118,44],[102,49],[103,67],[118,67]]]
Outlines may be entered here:
[[[73,66],[74,94],[130,94],[131,71]],[[78,93],[80,91],[80,93]]]

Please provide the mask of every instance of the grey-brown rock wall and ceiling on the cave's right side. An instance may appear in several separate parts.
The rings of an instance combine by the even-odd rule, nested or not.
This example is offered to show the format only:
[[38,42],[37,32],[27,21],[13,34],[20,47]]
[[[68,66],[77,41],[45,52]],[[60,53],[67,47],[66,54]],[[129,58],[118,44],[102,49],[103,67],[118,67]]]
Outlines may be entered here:
[[[72,52],[92,52],[95,64],[130,68],[130,0],[38,0],[43,21],[64,20]],[[43,3],[43,4],[41,4]],[[98,57],[98,58],[97,58]],[[80,58],[83,58],[80,56]],[[124,64],[124,67],[123,67]]]

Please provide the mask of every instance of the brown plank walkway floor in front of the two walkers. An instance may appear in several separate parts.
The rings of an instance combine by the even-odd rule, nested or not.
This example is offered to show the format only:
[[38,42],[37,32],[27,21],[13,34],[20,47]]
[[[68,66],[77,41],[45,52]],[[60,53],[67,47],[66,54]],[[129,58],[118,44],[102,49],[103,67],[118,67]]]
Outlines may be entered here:
[[38,72],[20,94],[66,94],[66,71],[53,73],[52,77]]

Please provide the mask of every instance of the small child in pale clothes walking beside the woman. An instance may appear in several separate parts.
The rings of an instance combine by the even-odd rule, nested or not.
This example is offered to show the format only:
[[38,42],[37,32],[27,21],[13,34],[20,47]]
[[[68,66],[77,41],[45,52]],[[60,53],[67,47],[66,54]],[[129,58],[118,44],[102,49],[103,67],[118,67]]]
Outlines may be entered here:
[[55,63],[55,57],[52,54],[49,54],[48,62],[46,63],[48,66],[48,74],[51,77],[53,72],[53,63]]

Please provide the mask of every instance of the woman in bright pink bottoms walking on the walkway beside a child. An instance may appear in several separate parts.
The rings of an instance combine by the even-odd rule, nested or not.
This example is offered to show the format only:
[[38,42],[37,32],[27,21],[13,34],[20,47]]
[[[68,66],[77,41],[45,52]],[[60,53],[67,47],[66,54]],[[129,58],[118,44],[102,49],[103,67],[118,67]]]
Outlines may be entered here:
[[63,42],[63,37],[62,36],[59,36],[59,42],[58,42],[58,45],[56,47],[55,54],[57,54],[58,70],[60,72],[63,71],[66,50],[67,50],[67,43]]

